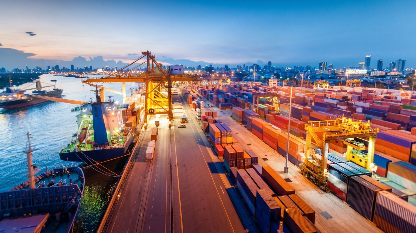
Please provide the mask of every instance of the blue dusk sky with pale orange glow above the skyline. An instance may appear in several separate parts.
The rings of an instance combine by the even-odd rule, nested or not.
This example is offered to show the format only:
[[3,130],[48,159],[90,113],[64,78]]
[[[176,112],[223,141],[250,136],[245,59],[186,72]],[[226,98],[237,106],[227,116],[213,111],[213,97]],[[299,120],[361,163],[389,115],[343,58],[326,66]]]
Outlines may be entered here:
[[378,59],[416,68],[415,10],[409,0],[9,0],[0,7],[0,67],[79,56],[115,64],[149,49],[159,61],[186,66],[327,61],[343,68],[371,55],[372,68]]

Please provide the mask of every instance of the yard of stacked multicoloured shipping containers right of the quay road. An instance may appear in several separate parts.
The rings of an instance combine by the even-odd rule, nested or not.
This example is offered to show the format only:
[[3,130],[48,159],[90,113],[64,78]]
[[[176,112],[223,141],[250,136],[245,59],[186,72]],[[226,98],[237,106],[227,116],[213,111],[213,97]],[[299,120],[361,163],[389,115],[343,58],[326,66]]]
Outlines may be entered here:
[[[387,192],[394,205],[403,206],[409,214],[416,213],[413,205],[416,197],[416,187],[413,185],[416,184],[416,122],[412,121],[416,119],[416,92],[345,86],[333,86],[331,89],[279,86],[271,88],[250,83],[192,88],[198,95],[191,94],[187,88],[182,89],[182,94],[193,96],[193,101],[210,101],[211,108],[201,109],[201,128],[204,132],[208,130],[209,141],[215,153],[221,161],[223,159],[230,180],[236,185],[262,232],[283,232],[276,226],[289,229],[290,232],[321,231],[314,226],[313,208],[306,204],[311,203],[311,199],[305,197],[307,200],[304,201],[301,196],[305,194],[297,195],[296,189],[283,178],[287,176],[282,177],[275,168],[265,166],[269,163],[269,157],[261,163],[253,162],[255,157],[250,155],[253,151],[246,149],[246,145],[251,146],[250,141],[237,140],[240,137],[237,134],[242,133],[242,128],[275,151],[276,155],[281,155],[283,159],[287,155],[288,161],[300,168],[300,175],[310,164],[321,167],[321,172],[318,173],[322,176],[312,175],[302,179],[310,178],[312,183],[323,191],[332,193],[382,231],[415,231],[416,226],[411,221],[406,222],[408,225],[405,224],[409,228],[391,225],[391,220],[386,218],[388,211],[394,211],[392,206],[389,206],[390,209],[383,209],[386,211],[383,217],[377,215],[376,211],[379,199],[384,197],[380,196]],[[270,97],[275,95],[280,96],[280,101]],[[258,96],[261,97],[256,98]],[[230,124],[230,120],[240,126],[233,128],[234,123]],[[316,127],[312,124],[331,125],[332,122],[347,130],[344,137],[335,139],[330,135],[337,134],[336,130],[311,130]],[[359,127],[361,131],[357,133],[351,128],[345,128],[345,125]],[[228,139],[228,133],[227,140],[224,139],[225,126],[230,129],[228,131],[237,130],[233,132],[234,137],[231,136],[231,139]],[[326,145],[319,147],[319,141],[324,135],[329,139]],[[309,143],[307,137],[311,138]],[[240,150],[243,152],[239,152]],[[261,160],[265,156],[267,155],[260,156]],[[242,161],[250,159],[251,167],[247,167],[246,162]],[[264,198],[260,202],[262,207],[253,201],[259,198],[259,193],[275,197],[274,202],[267,198],[267,205],[280,204],[279,221],[282,223],[276,219],[270,222],[272,217],[266,218],[267,221],[255,217],[257,213],[259,216],[269,216],[270,211],[275,209],[269,207],[268,212],[260,210],[266,206]],[[302,202],[302,207],[288,204],[288,200]],[[380,209],[379,207],[379,211]],[[300,212],[303,215],[297,216],[296,213]],[[312,215],[312,219],[306,217],[308,221],[305,220],[305,216]]]

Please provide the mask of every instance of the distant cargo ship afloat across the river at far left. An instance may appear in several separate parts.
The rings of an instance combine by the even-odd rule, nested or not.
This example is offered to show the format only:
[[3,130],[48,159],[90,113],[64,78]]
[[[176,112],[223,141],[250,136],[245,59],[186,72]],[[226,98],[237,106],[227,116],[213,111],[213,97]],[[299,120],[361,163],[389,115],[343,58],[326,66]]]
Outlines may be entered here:
[[[54,86],[52,90],[42,90],[42,88]],[[28,90],[32,91],[32,94],[25,93]],[[36,81],[35,88],[29,89],[12,89],[12,83],[10,81],[10,87],[6,88],[6,91],[0,93],[0,108],[21,108],[27,107],[39,103],[46,102],[48,100],[37,98],[35,96],[47,96],[47,97],[62,97],[62,89],[56,88],[55,85],[49,85],[42,87],[40,81]]]

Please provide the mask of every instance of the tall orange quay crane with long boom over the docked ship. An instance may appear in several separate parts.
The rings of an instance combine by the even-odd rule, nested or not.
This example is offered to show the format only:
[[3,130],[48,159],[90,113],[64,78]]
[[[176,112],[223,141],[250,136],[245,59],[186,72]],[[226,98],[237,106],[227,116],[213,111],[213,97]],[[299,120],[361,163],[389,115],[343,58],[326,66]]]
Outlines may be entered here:
[[[87,78],[84,83],[122,83],[123,101],[126,97],[126,82],[146,83],[145,92],[145,123],[147,124],[149,115],[167,114],[169,121],[173,118],[172,113],[172,82],[198,81],[199,77],[195,75],[175,74],[170,72],[170,66],[165,69],[162,64],[158,63],[151,52],[141,52],[135,61],[124,66],[113,74],[103,78]],[[143,59],[143,60],[142,60]],[[146,71],[142,74],[134,74],[134,71],[141,65],[146,64]],[[162,87],[167,87],[167,95],[162,93]],[[170,127],[170,124],[169,124]]]

